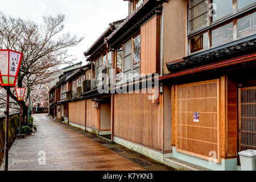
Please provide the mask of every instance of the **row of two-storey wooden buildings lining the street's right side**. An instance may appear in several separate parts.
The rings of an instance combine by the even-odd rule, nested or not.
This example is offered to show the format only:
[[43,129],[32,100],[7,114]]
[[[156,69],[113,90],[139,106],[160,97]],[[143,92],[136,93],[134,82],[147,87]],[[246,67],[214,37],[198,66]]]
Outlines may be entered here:
[[130,0],[84,52],[88,69],[65,78],[69,123],[173,167],[239,169],[238,152],[256,149],[255,10],[255,0]]

